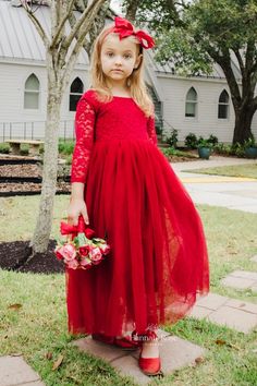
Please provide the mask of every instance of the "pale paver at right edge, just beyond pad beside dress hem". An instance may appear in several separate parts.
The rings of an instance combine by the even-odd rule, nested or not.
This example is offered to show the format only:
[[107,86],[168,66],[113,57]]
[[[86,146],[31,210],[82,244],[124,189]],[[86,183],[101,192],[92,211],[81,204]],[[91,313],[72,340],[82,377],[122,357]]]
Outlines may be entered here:
[[229,274],[221,284],[225,287],[232,287],[236,289],[250,289],[256,291],[257,287],[257,273],[248,270],[234,270]]

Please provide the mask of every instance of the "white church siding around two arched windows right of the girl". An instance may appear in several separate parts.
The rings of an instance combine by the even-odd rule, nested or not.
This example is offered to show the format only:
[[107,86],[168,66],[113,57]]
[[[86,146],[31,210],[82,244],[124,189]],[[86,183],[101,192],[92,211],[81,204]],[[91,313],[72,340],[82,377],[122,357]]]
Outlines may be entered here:
[[[208,137],[210,134],[218,136],[220,142],[231,142],[234,126],[234,112],[230,98],[229,119],[218,119],[218,102],[223,89],[230,95],[224,81],[217,80],[185,80],[174,77],[160,77],[164,101],[163,119],[166,132],[173,126],[179,130],[179,141],[193,132]],[[197,114],[195,118],[185,117],[185,98],[188,89],[194,87],[197,92]]]

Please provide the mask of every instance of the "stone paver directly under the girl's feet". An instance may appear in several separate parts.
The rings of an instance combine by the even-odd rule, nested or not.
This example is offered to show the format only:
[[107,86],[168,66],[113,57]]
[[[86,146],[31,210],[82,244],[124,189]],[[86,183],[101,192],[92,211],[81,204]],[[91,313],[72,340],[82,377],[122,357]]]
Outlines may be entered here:
[[[172,336],[163,330],[158,331],[160,357],[163,375],[186,365],[195,364],[197,358],[205,354],[205,350],[187,340]],[[123,376],[131,376],[139,385],[147,385],[151,378],[138,367],[139,350],[124,351],[93,340],[89,336],[74,342],[81,350],[108,361]]]

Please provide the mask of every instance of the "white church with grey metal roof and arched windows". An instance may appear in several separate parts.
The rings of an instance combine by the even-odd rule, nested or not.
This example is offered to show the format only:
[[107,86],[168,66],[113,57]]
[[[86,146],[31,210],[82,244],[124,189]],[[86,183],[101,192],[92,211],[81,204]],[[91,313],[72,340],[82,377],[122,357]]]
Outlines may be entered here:
[[[49,9],[36,13],[49,31]],[[156,105],[158,131],[169,136],[173,129],[179,141],[192,132],[231,143],[234,111],[229,86],[221,68],[211,76],[183,77],[171,65],[156,63],[146,51],[146,82]],[[236,61],[233,71],[240,81]],[[60,137],[74,136],[74,114],[81,95],[90,86],[88,58],[83,51],[71,77],[61,110]],[[0,0],[0,142],[8,138],[42,138],[47,110],[45,48],[33,23],[22,8]],[[257,91],[256,91],[257,93]],[[252,130],[257,137],[257,113]]]

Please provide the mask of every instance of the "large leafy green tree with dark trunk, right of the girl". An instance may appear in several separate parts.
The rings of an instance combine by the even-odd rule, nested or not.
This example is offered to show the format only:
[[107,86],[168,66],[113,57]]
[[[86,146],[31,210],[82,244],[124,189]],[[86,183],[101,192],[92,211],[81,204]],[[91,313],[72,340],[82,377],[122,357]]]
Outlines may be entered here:
[[[133,1],[123,3],[127,5]],[[162,64],[170,62],[176,74],[201,76],[211,74],[213,63],[221,67],[236,117],[233,143],[248,138],[257,110],[254,93],[257,84],[257,1],[147,0],[137,2],[136,15],[139,21],[147,21],[156,37],[156,59]]]

